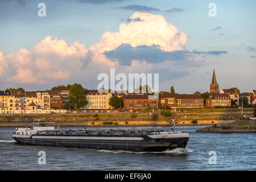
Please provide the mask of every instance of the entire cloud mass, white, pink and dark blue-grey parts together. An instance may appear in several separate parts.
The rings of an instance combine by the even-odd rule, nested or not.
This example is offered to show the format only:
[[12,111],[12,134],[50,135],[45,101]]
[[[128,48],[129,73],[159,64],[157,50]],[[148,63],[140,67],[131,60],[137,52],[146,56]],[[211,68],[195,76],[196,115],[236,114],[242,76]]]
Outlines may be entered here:
[[97,75],[109,73],[110,68],[119,73],[160,73],[160,78],[170,80],[204,65],[200,54],[226,53],[188,51],[184,48],[188,35],[162,15],[136,12],[129,20],[120,24],[118,32],[105,32],[100,42],[89,48],[47,36],[32,50],[23,48],[7,55],[0,52],[1,83],[81,82],[91,89],[88,85],[97,84]]

